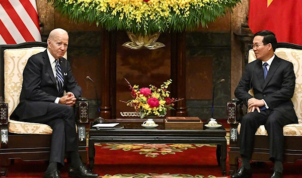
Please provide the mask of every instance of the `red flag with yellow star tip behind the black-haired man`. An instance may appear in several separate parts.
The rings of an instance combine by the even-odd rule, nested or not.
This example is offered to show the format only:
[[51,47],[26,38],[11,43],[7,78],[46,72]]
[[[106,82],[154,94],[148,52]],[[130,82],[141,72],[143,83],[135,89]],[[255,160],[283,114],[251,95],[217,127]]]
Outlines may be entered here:
[[272,31],[278,42],[302,45],[302,0],[250,0],[249,27]]

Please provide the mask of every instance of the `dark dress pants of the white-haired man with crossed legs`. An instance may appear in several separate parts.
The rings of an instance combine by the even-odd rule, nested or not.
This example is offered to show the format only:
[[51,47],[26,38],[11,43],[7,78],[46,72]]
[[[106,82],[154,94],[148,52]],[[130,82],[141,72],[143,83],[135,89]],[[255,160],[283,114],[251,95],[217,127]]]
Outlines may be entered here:
[[59,162],[64,165],[65,152],[78,151],[73,107],[50,103],[44,116],[24,121],[47,124],[52,128],[49,162]]

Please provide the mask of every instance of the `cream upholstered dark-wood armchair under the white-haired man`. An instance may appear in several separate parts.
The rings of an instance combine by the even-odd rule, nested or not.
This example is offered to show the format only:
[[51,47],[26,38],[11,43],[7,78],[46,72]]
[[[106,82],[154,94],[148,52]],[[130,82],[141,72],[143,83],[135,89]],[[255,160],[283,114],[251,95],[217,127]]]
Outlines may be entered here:
[[[0,45],[0,166],[1,176],[7,175],[9,159],[48,160],[52,129],[45,124],[10,120],[9,117],[19,104],[23,70],[29,57],[46,49],[47,43],[27,42],[17,45]],[[66,58],[66,54],[64,56]],[[87,163],[86,128],[88,102],[77,100],[77,129],[79,154]],[[67,155],[66,155],[67,156]]]

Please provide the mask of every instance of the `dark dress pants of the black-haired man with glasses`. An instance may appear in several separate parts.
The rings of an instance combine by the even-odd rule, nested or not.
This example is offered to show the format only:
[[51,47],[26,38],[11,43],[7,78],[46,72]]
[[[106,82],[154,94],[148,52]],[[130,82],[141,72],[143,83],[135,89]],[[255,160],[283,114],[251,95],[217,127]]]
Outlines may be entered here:
[[279,111],[262,110],[258,113],[246,114],[241,120],[240,154],[247,158],[252,157],[255,133],[260,125],[264,125],[269,137],[269,156],[271,161],[283,160],[283,126],[293,123],[286,119]]

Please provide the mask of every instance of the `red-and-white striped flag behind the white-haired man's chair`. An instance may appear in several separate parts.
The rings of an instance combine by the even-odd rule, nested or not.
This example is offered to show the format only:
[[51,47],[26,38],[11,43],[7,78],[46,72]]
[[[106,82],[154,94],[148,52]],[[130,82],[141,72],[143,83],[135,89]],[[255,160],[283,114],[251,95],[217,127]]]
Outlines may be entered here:
[[0,0],[0,45],[41,41],[35,0]]

